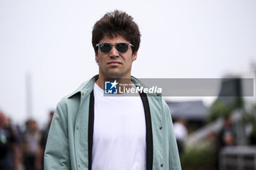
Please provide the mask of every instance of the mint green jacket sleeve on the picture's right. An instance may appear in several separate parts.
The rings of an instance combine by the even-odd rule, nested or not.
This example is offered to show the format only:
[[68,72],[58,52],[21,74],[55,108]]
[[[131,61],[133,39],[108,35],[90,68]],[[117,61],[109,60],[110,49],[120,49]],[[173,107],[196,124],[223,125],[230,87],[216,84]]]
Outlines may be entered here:
[[165,101],[162,101],[163,103],[163,109],[165,112],[165,123],[167,123],[167,142],[168,142],[168,163],[169,163],[169,169],[172,170],[181,170],[181,162],[178,155],[178,147],[176,142],[176,136],[173,131],[173,120],[170,116],[170,109],[165,103]]

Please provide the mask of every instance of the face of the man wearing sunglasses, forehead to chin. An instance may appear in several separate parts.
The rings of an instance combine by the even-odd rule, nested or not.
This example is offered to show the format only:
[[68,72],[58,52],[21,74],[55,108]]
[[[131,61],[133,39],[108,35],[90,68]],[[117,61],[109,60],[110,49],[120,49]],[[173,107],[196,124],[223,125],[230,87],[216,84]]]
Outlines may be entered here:
[[129,46],[126,53],[118,53],[116,47],[117,43],[125,42],[130,43],[122,36],[116,36],[112,39],[108,36],[104,36],[99,41],[108,42],[113,45],[110,53],[102,53],[98,47],[98,54],[95,54],[95,60],[99,63],[99,76],[104,78],[130,78],[132,61],[137,58],[137,52],[132,55],[132,47]]

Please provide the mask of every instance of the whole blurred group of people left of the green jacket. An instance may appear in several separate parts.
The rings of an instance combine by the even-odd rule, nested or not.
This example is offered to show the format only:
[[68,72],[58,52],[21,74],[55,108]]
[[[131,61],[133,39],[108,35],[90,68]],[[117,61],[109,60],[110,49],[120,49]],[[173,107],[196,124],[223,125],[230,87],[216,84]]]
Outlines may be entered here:
[[48,125],[39,130],[36,120],[26,120],[22,130],[0,111],[0,169],[42,170],[43,154],[54,112]]

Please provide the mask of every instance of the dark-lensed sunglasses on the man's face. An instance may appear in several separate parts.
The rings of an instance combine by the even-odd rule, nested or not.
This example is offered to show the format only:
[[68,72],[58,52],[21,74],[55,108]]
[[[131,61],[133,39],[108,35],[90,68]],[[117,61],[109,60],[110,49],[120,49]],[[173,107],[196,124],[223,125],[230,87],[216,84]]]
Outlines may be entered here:
[[134,47],[132,44],[125,43],[125,42],[120,42],[120,43],[117,43],[116,45],[111,45],[108,42],[102,42],[100,44],[97,44],[96,47],[99,47],[99,50],[101,50],[102,53],[110,53],[110,50],[112,49],[113,46],[116,47],[116,50],[118,51],[118,53],[126,53],[129,45]]

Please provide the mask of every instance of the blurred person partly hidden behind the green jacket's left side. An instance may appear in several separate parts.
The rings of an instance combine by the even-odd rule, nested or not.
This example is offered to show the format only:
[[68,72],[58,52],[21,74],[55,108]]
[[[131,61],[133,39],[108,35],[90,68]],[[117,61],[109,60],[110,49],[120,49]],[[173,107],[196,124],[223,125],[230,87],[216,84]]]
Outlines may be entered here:
[[53,115],[54,115],[54,111],[50,111],[49,114],[49,120],[48,120],[48,125],[47,127],[42,131],[42,137],[41,140],[39,142],[39,147],[37,150],[37,157],[36,157],[36,170],[43,170],[44,169],[44,153],[45,153],[45,146],[46,146],[46,142],[47,142],[47,138],[48,138],[48,133],[49,133],[49,129],[50,129],[50,123],[53,120]]

